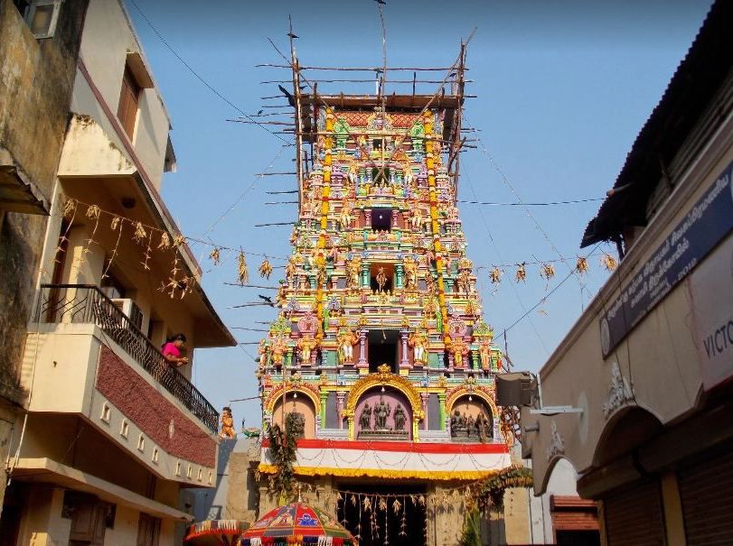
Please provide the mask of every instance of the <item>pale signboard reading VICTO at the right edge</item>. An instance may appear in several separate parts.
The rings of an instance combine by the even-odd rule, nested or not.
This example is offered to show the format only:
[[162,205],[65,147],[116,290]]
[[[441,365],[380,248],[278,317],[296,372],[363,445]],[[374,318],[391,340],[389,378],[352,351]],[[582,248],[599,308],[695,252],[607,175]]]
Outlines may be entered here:
[[707,391],[733,376],[733,236],[690,277],[695,345]]

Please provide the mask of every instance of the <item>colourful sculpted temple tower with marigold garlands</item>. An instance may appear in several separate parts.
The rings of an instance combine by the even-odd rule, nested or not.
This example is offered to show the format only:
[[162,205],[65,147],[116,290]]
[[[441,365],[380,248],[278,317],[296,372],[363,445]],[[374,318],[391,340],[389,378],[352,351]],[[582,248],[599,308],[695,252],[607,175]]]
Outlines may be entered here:
[[[494,402],[503,355],[456,207],[463,56],[451,91],[432,96],[379,83],[373,96],[320,95],[293,64],[299,212],[259,346],[263,423],[291,421],[296,477],[362,544],[398,536],[407,509],[425,532],[403,543],[455,543],[462,514],[415,499],[510,464]],[[267,441],[259,471],[277,471]],[[374,492],[413,499],[386,511],[379,541],[363,510]],[[263,489],[260,513],[276,500]]]

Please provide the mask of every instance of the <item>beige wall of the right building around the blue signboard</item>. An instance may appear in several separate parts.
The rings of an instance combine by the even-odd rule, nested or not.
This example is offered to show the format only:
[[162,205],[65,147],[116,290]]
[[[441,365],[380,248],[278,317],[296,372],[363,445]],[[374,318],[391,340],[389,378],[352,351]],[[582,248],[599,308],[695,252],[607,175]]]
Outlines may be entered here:
[[[582,474],[597,464],[597,448],[604,432],[629,405],[651,413],[663,424],[681,421],[695,410],[700,400],[701,363],[691,313],[690,276],[649,312],[606,359],[601,353],[598,324],[606,306],[618,296],[619,287],[625,287],[644,267],[672,227],[687,216],[731,161],[733,118],[728,116],[707,143],[705,153],[681,175],[681,180],[676,180],[672,197],[646,227],[644,236],[636,240],[540,370],[544,405],[572,405],[583,412],[552,417],[522,412],[522,426],[540,425],[539,433],[528,432],[523,441],[525,456],[531,453],[537,491],[544,490],[548,469],[556,458],[550,453],[552,421],[562,440],[564,457]],[[611,373],[616,365],[633,389],[634,400],[606,416],[603,405],[609,399]]]

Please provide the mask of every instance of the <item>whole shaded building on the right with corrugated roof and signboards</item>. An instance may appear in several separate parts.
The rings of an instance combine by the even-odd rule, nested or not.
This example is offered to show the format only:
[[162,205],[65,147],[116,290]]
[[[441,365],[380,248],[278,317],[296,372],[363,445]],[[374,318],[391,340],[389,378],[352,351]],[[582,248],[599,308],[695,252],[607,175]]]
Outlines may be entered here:
[[540,370],[582,412],[522,411],[536,492],[567,458],[610,546],[733,541],[732,24],[716,2],[583,237],[623,260]]

